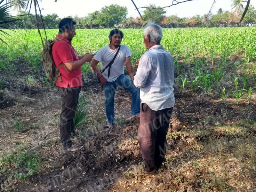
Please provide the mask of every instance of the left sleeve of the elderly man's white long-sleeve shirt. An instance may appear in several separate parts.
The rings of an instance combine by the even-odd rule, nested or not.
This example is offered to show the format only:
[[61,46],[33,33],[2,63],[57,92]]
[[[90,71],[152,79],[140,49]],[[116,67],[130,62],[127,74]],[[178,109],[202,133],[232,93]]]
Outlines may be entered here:
[[151,66],[150,58],[148,58],[147,55],[142,55],[140,58],[136,75],[134,76],[134,81],[133,81],[136,87],[139,87],[139,88],[145,87],[151,68],[152,66]]

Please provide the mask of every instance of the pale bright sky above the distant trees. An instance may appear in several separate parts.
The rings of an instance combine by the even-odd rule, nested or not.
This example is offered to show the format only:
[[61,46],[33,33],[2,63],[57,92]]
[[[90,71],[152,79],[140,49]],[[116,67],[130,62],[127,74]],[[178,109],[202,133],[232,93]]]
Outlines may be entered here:
[[[172,0],[133,0],[136,6],[146,7],[149,4],[155,4],[156,6],[165,7],[172,4]],[[178,2],[183,0],[178,0]],[[178,17],[192,17],[195,15],[204,15],[207,14],[212,6],[214,0],[194,0],[185,3],[180,3],[173,5],[169,8],[165,8],[166,16],[177,15]],[[92,3],[93,2],[93,3]],[[212,13],[216,14],[219,8],[222,8],[224,11],[231,11],[231,0],[216,0]],[[139,13],[135,9],[131,0],[94,0],[94,1],[85,1],[85,0],[42,0],[39,2],[40,9],[42,10],[43,15],[56,13],[60,18],[67,16],[78,16],[85,17],[88,16],[88,13],[94,11],[100,11],[104,6],[111,4],[118,4],[121,6],[127,7],[127,17],[132,16],[133,18],[138,17]],[[251,5],[256,8],[256,1],[252,0]],[[246,4],[244,3],[244,6]],[[143,14],[145,8],[140,8],[139,11]],[[34,14],[34,12],[31,12]]]

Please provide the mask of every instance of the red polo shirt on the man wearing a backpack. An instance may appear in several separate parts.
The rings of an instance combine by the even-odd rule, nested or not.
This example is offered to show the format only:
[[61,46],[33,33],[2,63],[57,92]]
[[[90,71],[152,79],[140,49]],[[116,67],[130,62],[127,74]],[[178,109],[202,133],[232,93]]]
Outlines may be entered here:
[[[63,41],[57,41],[52,45],[52,59],[58,68],[61,63],[66,63],[69,61],[79,60],[76,50],[71,45],[71,42],[68,39],[63,38],[62,36],[56,35],[55,39],[63,39]],[[68,70],[68,68],[67,68]],[[82,71],[81,68],[77,68],[73,71],[68,70],[68,74],[64,68],[64,65],[60,68],[60,76],[63,83],[60,83],[60,78],[56,83],[57,86],[67,88],[77,87],[82,85]]]

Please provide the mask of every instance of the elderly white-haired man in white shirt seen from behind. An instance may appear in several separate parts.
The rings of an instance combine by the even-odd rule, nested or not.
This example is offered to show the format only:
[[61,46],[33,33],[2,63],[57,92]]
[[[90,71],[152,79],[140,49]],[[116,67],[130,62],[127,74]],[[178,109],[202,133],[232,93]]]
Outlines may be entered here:
[[147,48],[139,61],[134,85],[140,87],[140,151],[144,171],[156,173],[164,168],[166,134],[174,106],[174,63],[172,55],[160,45],[163,29],[154,23],[144,28]]

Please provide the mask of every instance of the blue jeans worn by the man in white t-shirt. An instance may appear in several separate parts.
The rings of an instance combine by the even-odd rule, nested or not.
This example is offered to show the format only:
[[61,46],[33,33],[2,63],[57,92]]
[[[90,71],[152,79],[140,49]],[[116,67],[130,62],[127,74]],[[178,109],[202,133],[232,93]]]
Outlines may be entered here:
[[103,86],[108,124],[113,125],[115,124],[114,98],[117,86],[132,93],[132,115],[140,114],[140,89],[136,89],[131,79],[122,74],[115,81],[107,82],[106,86]]

